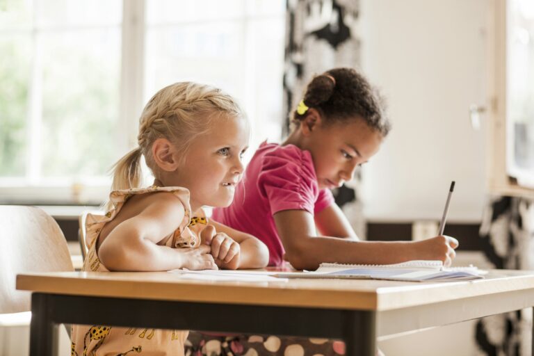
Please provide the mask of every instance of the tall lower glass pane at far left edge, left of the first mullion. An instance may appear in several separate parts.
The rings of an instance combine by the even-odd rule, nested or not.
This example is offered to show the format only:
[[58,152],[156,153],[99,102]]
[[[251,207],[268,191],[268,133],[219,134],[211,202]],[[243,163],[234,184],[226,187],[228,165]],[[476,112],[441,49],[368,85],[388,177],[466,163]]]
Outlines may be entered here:
[[0,36],[0,53],[0,177],[20,177],[26,162],[31,40]]

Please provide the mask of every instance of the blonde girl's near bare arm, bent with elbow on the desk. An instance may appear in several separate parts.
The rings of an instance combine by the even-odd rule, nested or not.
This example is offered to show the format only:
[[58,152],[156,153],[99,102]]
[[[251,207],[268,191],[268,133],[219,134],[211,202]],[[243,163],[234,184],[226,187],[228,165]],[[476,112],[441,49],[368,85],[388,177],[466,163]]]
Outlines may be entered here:
[[178,228],[184,206],[172,193],[155,193],[146,198],[147,207],[124,220],[106,236],[98,257],[109,270],[156,271],[175,268],[217,268],[209,246],[169,248],[157,245]]

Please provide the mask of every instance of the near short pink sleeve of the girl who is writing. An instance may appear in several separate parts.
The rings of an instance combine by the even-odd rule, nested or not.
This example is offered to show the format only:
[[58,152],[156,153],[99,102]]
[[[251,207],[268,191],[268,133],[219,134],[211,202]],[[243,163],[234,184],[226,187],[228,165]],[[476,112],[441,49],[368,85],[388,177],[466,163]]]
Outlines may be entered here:
[[314,214],[319,190],[312,156],[293,145],[267,152],[261,162],[258,188],[273,215],[293,209]]

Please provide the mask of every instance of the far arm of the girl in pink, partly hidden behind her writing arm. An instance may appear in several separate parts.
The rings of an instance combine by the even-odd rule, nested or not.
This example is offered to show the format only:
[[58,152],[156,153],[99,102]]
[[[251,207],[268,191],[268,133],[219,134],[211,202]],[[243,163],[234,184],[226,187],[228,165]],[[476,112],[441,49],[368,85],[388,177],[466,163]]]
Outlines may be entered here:
[[314,220],[321,235],[359,240],[345,214],[335,203],[316,213]]

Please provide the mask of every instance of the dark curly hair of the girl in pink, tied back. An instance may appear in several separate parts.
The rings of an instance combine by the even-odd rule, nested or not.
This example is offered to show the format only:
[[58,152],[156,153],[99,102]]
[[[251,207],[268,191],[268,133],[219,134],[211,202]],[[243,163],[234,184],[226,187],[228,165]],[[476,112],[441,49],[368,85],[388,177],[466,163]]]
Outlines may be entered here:
[[[387,136],[391,123],[385,115],[385,101],[367,79],[352,68],[334,68],[309,82],[304,103],[314,108],[327,124],[362,119]],[[293,124],[300,125],[308,112],[293,112]]]

